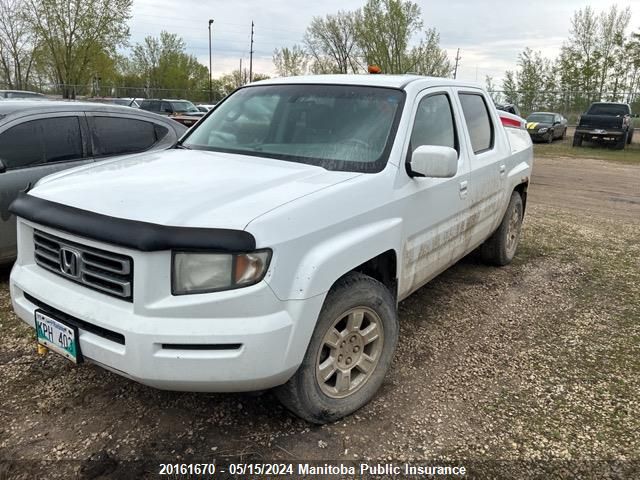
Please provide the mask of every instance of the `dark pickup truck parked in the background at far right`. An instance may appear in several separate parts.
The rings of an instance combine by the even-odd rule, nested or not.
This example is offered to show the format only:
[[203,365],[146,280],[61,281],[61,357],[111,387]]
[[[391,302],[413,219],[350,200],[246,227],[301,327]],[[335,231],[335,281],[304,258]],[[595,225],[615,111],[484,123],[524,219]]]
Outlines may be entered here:
[[614,143],[615,148],[622,150],[633,137],[631,117],[631,107],[626,103],[592,103],[587,113],[580,116],[573,146],[579,147],[586,140]]

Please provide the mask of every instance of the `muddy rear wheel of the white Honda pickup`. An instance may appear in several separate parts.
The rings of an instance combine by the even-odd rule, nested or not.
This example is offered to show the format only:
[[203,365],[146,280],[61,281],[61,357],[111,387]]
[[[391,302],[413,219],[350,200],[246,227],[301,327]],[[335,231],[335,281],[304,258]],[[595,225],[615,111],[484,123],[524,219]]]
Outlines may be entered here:
[[500,267],[511,263],[520,240],[523,215],[522,197],[513,192],[500,226],[480,247],[485,262]]

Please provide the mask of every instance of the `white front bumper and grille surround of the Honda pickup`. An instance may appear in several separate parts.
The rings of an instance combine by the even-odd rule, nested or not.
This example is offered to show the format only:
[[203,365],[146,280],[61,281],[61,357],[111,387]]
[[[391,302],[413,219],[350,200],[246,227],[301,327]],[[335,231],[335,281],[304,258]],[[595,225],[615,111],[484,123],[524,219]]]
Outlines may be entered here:
[[[32,227],[21,221],[19,242],[30,231]],[[281,301],[265,282],[227,292],[173,297],[166,291],[168,275],[158,271],[151,275],[157,270],[154,263],[166,260],[169,266],[168,258],[162,258],[169,257],[169,252],[129,251],[136,262],[131,303],[39,267],[29,242],[20,245],[10,288],[13,308],[23,321],[34,327],[35,310],[49,308],[86,322],[87,328],[79,328],[85,359],[167,390],[251,391],[286,382],[302,362],[324,300],[318,296]],[[166,286],[159,290],[160,283]],[[100,329],[121,336],[123,342]]]

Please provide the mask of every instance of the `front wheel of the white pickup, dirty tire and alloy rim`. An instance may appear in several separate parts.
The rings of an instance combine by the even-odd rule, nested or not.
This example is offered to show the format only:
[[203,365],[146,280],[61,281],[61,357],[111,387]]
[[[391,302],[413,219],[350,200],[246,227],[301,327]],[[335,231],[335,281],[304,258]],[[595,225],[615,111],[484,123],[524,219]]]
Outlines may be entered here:
[[[365,328],[349,329],[360,318],[360,326]],[[362,334],[366,331],[370,333]],[[285,407],[312,423],[332,422],[355,412],[382,385],[398,331],[396,301],[391,292],[367,275],[348,273],[327,294],[302,364],[287,383],[276,388],[276,396]],[[368,373],[361,370],[364,365],[370,368]],[[321,376],[323,370],[326,379]],[[348,379],[342,373],[347,370]],[[341,379],[348,383],[341,383]]]

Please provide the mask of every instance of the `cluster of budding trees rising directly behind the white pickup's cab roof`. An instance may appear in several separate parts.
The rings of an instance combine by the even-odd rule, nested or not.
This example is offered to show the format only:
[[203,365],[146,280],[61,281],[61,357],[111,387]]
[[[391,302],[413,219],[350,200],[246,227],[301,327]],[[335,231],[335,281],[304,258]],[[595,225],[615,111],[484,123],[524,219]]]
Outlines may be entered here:
[[314,17],[302,43],[276,49],[273,63],[281,76],[363,73],[368,65],[391,74],[453,71],[438,32],[424,28],[420,7],[406,0],[368,0],[354,11]]

